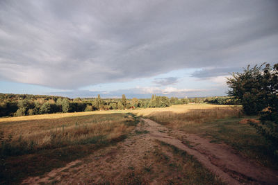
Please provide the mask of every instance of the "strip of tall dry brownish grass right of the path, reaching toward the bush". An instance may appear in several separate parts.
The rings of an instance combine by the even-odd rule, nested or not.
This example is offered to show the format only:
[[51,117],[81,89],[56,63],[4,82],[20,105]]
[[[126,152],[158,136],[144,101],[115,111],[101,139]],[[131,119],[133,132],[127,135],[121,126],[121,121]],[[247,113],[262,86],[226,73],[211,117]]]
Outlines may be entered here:
[[153,112],[147,117],[152,118],[152,120],[158,123],[180,128],[186,125],[202,124],[221,118],[238,117],[241,114],[241,107],[213,107],[209,109],[189,109],[183,113]]

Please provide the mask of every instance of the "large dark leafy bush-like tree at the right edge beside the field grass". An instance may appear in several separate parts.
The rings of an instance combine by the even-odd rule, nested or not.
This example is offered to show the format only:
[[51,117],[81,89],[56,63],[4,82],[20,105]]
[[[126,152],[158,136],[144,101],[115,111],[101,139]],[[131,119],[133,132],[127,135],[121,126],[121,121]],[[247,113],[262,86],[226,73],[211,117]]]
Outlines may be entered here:
[[250,123],[278,147],[278,64],[250,66],[228,78],[229,96],[239,100],[245,114],[261,113],[262,124]]

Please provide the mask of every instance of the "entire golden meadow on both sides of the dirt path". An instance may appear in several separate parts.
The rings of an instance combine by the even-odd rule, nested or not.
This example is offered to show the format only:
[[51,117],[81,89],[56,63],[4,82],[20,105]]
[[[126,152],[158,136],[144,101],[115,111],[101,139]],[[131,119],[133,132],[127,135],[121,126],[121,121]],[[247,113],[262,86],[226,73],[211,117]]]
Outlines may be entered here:
[[[240,122],[256,116],[243,115],[241,106],[188,104],[0,118],[0,183],[18,184],[30,175],[42,175],[123,141],[133,132],[140,117],[152,119],[170,130],[227,143],[241,155],[277,169],[272,144],[254,127]],[[141,132],[135,133],[147,133]]]

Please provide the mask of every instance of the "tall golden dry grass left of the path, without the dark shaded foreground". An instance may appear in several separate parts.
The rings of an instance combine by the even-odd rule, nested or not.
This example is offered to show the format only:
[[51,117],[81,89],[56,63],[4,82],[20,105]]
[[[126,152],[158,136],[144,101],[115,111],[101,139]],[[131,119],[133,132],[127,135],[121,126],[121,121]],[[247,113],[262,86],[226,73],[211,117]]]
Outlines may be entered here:
[[1,124],[1,156],[115,139],[129,132],[133,122],[132,116],[108,114]]

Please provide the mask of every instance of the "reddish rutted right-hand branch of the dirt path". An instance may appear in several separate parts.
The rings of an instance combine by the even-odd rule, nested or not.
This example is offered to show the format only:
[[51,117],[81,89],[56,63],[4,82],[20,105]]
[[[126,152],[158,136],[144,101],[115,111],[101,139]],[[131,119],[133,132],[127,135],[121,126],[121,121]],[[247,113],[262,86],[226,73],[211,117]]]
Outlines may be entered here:
[[[147,130],[155,139],[193,155],[227,184],[278,184],[277,171],[254,164],[226,144],[210,143],[208,139],[179,130],[173,130],[169,136],[166,134],[169,130],[163,125],[149,119],[142,120],[149,125]],[[190,146],[177,137],[185,138]]]

